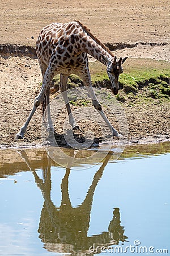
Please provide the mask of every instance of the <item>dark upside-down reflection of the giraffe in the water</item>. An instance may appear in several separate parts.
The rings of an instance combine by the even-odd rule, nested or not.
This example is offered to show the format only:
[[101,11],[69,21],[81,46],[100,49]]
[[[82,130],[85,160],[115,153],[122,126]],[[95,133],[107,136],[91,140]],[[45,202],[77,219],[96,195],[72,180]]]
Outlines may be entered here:
[[[91,254],[89,248],[95,246],[111,246],[126,241],[128,237],[124,235],[124,226],[121,226],[120,210],[113,209],[113,218],[108,224],[108,232],[102,232],[95,236],[88,236],[90,227],[90,214],[93,203],[94,192],[97,183],[103,175],[111,154],[108,154],[94,175],[91,186],[88,189],[86,198],[78,207],[72,207],[69,197],[69,175],[71,168],[66,168],[65,176],[61,182],[62,200],[60,207],[56,207],[51,199],[52,180],[51,180],[51,160],[48,159],[47,166],[44,166],[43,179],[41,179],[35,169],[31,168],[27,155],[24,151],[20,152],[25,162],[32,171],[37,186],[40,188],[44,197],[44,205],[41,210],[39,230],[41,241],[45,249],[55,253],[70,253],[71,255]],[[100,251],[98,251],[100,252]]]

